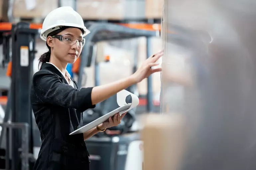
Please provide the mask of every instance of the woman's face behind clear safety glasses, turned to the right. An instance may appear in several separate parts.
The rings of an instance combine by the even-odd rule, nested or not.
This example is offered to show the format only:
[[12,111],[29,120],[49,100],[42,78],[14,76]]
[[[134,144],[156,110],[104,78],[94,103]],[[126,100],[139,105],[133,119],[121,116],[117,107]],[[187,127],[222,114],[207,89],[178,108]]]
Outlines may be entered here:
[[76,38],[82,38],[82,31],[78,28],[67,28],[58,35],[63,35],[63,41],[58,38],[52,38],[52,53],[54,56],[64,63],[73,64],[80,56],[82,47],[77,43],[71,43]]

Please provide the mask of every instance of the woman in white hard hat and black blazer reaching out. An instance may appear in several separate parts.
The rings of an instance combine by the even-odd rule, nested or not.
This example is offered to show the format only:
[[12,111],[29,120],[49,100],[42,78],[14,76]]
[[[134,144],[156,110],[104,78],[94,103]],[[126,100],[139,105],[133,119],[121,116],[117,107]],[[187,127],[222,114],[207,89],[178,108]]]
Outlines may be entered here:
[[82,125],[82,112],[117,92],[142,81],[161,69],[151,69],[162,52],[147,59],[131,76],[89,88],[77,88],[66,71],[74,63],[89,30],[70,7],[58,8],[45,18],[41,39],[49,51],[40,57],[40,70],[33,76],[31,104],[39,127],[42,146],[34,170],[89,170],[85,140],[106,128],[117,126],[125,114],[94,127],[84,134],[69,135]]

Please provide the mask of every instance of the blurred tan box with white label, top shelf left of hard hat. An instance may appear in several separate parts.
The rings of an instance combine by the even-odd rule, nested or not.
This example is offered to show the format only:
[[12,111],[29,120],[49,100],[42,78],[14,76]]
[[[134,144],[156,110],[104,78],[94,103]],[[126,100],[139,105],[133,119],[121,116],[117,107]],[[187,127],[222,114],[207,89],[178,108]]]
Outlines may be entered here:
[[27,0],[14,0],[13,17],[45,18],[56,8],[58,8],[58,0],[32,0],[31,2]]

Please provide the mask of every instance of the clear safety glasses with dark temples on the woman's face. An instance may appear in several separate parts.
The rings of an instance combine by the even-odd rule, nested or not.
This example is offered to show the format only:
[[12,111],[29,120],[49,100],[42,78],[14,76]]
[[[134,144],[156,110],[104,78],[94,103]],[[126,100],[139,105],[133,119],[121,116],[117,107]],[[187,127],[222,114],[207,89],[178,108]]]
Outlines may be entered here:
[[78,47],[83,47],[85,44],[85,39],[84,38],[77,38],[72,35],[53,35],[53,38],[57,38],[60,41],[63,41],[67,45],[74,45],[75,43],[77,44]]

